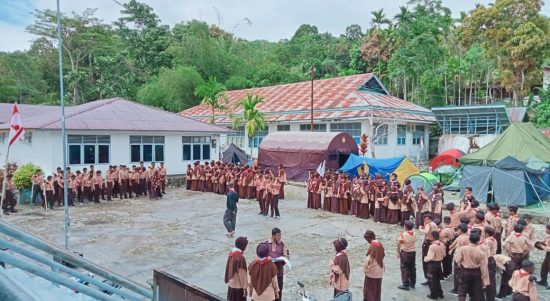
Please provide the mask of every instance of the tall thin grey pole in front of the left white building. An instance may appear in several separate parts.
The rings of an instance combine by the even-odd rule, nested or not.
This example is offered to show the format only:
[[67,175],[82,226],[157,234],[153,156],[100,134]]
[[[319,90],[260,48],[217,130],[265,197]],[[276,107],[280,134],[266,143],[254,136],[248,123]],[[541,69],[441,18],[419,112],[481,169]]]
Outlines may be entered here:
[[63,42],[61,40],[61,14],[57,0],[57,54],[59,57],[59,95],[61,96],[61,140],[63,143],[63,208],[65,210],[65,249],[69,248],[69,200],[67,188],[67,134],[65,132],[65,97],[63,89]]

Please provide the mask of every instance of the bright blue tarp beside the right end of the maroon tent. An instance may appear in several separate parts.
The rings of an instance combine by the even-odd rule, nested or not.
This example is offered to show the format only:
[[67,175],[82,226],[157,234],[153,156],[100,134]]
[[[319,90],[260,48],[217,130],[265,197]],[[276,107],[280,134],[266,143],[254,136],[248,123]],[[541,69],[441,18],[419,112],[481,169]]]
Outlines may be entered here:
[[405,156],[395,157],[395,158],[386,158],[386,159],[374,159],[361,157],[358,155],[350,154],[346,164],[340,168],[341,171],[349,173],[350,175],[357,176],[357,167],[367,163],[369,166],[369,175],[376,176],[381,174],[384,179],[388,180],[390,174],[394,172],[401,162],[405,159]]

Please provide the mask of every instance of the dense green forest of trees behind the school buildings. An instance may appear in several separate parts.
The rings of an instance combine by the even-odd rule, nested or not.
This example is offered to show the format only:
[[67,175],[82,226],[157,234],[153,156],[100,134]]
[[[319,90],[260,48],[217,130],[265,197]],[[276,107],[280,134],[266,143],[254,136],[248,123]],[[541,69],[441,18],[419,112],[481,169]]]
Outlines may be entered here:
[[[393,95],[428,108],[519,106],[537,95],[533,120],[550,127],[550,92],[541,90],[550,18],[542,5],[496,0],[454,18],[439,0],[412,0],[395,16],[372,11],[369,28],[350,24],[334,36],[303,24],[269,42],[198,20],[169,26],[131,0],[112,24],[95,9],[62,16],[64,95],[72,105],[118,96],[178,112],[200,103],[194,90],[209,79],[227,90],[259,87],[309,80],[314,66],[316,78],[374,72]],[[37,10],[33,17],[30,49],[0,53],[0,98],[58,104],[56,15]]]

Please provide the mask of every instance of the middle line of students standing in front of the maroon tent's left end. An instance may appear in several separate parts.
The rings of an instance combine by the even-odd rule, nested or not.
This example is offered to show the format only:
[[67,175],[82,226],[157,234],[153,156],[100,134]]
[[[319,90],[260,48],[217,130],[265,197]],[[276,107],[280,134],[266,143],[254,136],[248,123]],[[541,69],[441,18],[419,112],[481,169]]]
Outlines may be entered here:
[[279,200],[284,199],[286,173],[279,165],[276,175],[273,171],[251,168],[247,165],[228,164],[212,161],[187,165],[186,189],[212,192],[224,195],[233,185],[240,199],[256,199],[260,207],[259,214],[280,218]]

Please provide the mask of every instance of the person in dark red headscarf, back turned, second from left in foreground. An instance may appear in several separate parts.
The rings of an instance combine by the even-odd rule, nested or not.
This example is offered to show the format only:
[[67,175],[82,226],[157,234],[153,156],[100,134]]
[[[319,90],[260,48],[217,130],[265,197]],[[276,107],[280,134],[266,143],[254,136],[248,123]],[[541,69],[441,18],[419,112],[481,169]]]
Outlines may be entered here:
[[248,266],[248,295],[254,301],[279,299],[277,266],[269,257],[269,249],[269,244],[259,244],[256,248],[258,257]]

